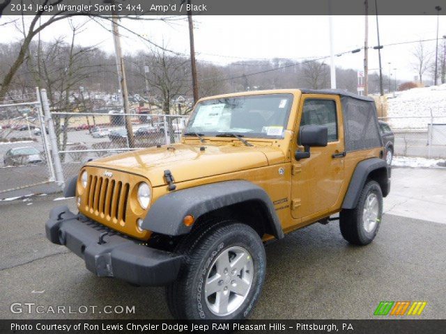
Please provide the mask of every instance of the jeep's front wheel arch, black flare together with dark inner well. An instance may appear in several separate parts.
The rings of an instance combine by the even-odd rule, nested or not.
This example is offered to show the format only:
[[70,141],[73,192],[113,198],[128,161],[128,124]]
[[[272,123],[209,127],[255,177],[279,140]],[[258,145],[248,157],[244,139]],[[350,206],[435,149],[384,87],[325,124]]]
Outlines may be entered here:
[[[183,224],[194,216],[192,226]],[[153,203],[141,228],[178,236],[189,233],[206,218],[234,218],[250,225],[259,234],[284,237],[282,225],[266,191],[252,182],[234,180],[206,184],[167,193]]]

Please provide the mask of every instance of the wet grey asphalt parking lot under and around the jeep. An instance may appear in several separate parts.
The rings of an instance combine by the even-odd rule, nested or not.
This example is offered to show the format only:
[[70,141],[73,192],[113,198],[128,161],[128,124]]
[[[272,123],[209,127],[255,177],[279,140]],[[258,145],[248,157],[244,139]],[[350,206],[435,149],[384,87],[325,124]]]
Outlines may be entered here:
[[[162,287],[96,278],[80,258],[47,241],[49,209],[65,203],[72,207],[72,200],[55,201],[57,196],[0,203],[0,318],[169,319]],[[444,318],[445,240],[444,223],[390,214],[365,247],[348,245],[337,222],[288,234],[266,247],[266,284],[252,318],[369,319],[380,301],[427,301],[420,317]],[[15,314],[12,303],[36,303],[44,312]],[[66,306],[66,314],[46,313],[59,305]],[[96,306],[95,313],[91,308],[80,313],[82,305]],[[101,312],[107,305],[134,305],[135,312]],[[69,314],[68,307],[75,313]]]

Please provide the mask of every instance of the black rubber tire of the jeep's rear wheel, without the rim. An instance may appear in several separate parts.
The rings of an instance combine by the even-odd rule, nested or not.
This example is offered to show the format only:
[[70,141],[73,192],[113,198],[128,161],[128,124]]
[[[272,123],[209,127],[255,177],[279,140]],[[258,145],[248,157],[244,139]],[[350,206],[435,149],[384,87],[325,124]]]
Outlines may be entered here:
[[[367,231],[364,227],[363,215],[366,200],[370,194],[376,196],[378,202],[378,216],[374,228]],[[341,234],[350,244],[364,246],[370,244],[378,233],[383,216],[383,193],[378,182],[369,180],[362,189],[357,205],[354,209],[343,209],[339,214]]]

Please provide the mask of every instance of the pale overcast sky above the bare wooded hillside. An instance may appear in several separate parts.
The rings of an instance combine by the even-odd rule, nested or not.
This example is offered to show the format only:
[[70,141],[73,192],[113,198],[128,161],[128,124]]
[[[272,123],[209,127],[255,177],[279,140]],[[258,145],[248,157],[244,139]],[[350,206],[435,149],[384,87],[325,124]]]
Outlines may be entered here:
[[[2,17],[0,24],[11,18]],[[332,19],[336,54],[363,47],[364,16],[334,16]],[[379,16],[378,19],[381,45],[436,38],[435,16]],[[85,18],[76,18],[75,22],[84,20]],[[330,55],[330,33],[326,16],[196,16],[194,22],[195,50],[197,58],[201,60],[226,64],[252,58],[277,57],[301,60]],[[103,24],[107,29],[110,28],[109,22]],[[171,24],[121,19],[121,24],[157,44],[164,43],[168,49],[185,54],[189,52],[189,35],[185,19]],[[42,38],[52,40],[61,35],[68,36],[69,33],[68,22],[61,21],[45,29]],[[125,52],[148,48],[148,42],[136,35],[124,29],[121,29],[121,34]],[[440,16],[439,47],[443,47],[443,35],[446,35],[446,17]],[[0,36],[1,42],[20,39],[20,33],[10,25],[0,27]],[[105,51],[114,51],[112,34],[95,22],[86,24],[84,32],[77,40],[82,45],[98,45]],[[394,68],[397,68],[397,79],[412,80],[416,75],[411,65],[414,61],[411,53],[415,44],[385,46],[381,50],[384,74],[388,74],[390,69],[394,75]],[[425,44],[435,57],[435,41]],[[378,45],[376,17],[370,16],[369,46],[374,45]],[[362,51],[357,54],[346,54],[335,57],[335,64],[360,70],[363,57]],[[330,63],[330,59],[325,62]],[[373,49],[369,50],[369,68],[378,68],[378,51]]]

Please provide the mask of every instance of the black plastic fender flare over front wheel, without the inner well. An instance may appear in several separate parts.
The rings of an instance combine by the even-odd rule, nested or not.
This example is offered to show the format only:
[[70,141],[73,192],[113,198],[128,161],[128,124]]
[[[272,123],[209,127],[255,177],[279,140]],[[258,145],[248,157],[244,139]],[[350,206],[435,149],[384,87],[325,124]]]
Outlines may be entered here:
[[266,230],[270,230],[277,239],[282,239],[284,232],[270,197],[261,187],[243,180],[205,184],[167,193],[153,203],[141,228],[171,236],[187,234],[192,226],[183,224],[185,216],[192,215],[197,220],[208,212],[247,201],[261,204],[262,214],[268,218]]

